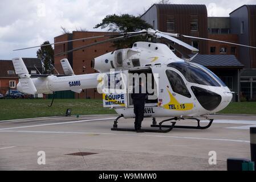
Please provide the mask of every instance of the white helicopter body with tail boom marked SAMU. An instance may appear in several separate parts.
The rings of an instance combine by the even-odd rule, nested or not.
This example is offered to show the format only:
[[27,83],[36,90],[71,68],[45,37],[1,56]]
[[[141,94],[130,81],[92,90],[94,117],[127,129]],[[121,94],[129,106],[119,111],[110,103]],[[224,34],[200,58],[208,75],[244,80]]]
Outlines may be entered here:
[[[18,59],[15,60],[18,64]],[[214,73],[201,65],[180,59],[161,43],[137,42],[132,48],[96,57],[92,60],[92,67],[99,73],[38,78],[30,78],[28,72],[17,72],[18,68],[15,68],[20,77],[17,89],[29,94],[50,94],[62,90],[80,93],[82,89],[99,88],[101,84],[103,105],[115,109],[124,118],[135,116],[129,94],[132,85],[124,79],[127,92],[105,93],[102,74],[110,75],[111,69],[127,77],[129,73],[144,71],[153,74],[157,85],[156,100],[145,104],[145,117],[191,117],[216,113],[229,105],[233,96]]]

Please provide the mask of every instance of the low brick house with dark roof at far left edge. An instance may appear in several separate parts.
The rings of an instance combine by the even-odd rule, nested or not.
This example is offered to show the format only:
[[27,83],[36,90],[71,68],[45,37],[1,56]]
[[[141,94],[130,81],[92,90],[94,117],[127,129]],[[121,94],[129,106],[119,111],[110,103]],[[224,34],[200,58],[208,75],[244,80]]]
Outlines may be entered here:
[[[36,75],[43,72],[43,66],[40,59],[37,58],[23,58],[23,61],[31,75]],[[35,69],[35,67],[38,71]],[[7,90],[16,90],[19,78],[15,75],[13,61],[0,60],[0,93],[6,94]]]

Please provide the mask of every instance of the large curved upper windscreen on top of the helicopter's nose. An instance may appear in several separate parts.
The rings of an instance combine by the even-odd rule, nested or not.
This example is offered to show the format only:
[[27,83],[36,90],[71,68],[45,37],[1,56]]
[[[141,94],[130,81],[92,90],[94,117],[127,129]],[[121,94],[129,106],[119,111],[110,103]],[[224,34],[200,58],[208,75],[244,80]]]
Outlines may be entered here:
[[188,82],[208,86],[221,86],[216,80],[213,79],[212,76],[209,75],[209,73],[188,63],[171,63],[168,64],[168,67],[172,67],[180,71]]

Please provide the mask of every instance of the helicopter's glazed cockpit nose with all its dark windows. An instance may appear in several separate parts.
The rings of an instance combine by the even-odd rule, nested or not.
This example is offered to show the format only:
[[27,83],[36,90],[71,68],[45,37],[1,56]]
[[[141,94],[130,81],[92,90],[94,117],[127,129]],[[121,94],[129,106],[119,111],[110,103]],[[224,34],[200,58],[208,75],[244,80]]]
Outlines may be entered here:
[[[227,86],[209,69],[200,64],[174,62],[168,64],[166,75],[173,92],[191,98],[196,97],[204,109],[213,111],[221,101],[230,101],[232,94]],[[174,71],[175,70],[175,71]]]

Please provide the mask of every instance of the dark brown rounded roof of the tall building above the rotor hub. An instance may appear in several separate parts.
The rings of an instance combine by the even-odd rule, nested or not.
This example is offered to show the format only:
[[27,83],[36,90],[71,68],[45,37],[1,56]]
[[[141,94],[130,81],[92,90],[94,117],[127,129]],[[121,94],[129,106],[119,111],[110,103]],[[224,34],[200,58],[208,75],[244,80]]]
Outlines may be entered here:
[[153,6],[156,6],[157,10],[161,14],[169,14],[170,12],[172,14],[184,14],[184,11],[186,11],[186,13],[188,14],[207,14],[207,9],[205,5],[153,4],[143,15],[148,13],[148,11]]

